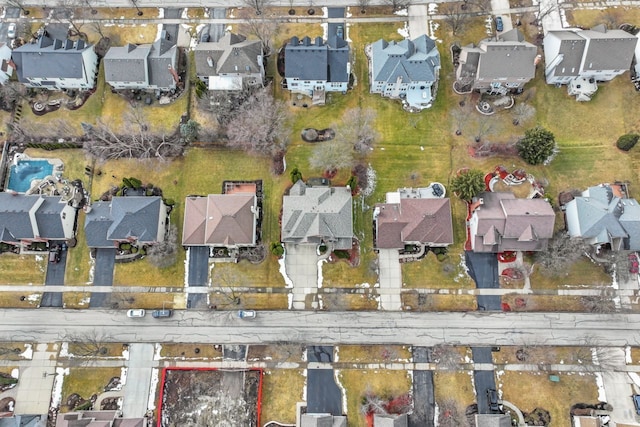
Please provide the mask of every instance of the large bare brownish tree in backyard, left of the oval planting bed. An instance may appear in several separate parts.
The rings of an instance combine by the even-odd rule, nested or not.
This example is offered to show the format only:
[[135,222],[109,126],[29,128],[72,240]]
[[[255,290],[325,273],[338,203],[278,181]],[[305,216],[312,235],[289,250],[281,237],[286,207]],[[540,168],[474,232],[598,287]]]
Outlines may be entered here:
[[289,145],[289,113],[274,99],[271,87],[261,88],[238,109],[226,127],[228,145],[252,154],[274,156]]

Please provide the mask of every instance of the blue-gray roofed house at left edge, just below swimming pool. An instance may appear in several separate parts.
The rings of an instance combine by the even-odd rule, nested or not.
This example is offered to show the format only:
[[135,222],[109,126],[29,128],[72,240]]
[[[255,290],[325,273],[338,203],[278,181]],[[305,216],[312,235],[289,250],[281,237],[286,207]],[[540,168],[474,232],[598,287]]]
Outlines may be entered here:
[[62,196],[0,193],[0,242],[21,251],[32,243],[65,242],[75,236],[76,215]]

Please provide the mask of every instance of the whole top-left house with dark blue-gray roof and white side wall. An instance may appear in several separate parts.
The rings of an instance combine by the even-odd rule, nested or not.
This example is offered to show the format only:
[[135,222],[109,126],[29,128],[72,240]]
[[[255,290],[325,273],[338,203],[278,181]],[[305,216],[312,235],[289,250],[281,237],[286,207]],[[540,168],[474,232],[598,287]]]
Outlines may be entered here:
[[84,40],[40,36],[12,52],[18,81],[50,90],[89,90],[96,85],[98,55]]

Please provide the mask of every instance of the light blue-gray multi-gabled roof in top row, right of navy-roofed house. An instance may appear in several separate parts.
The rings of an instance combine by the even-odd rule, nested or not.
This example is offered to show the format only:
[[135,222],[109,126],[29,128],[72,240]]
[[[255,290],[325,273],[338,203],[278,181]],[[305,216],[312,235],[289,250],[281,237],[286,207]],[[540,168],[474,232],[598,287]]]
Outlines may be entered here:
[[440,67],[440,53],[433,39],[422,35],[414,40],[387,42],[380,39],[371,46],[373,80],[395,83],[434,82]]

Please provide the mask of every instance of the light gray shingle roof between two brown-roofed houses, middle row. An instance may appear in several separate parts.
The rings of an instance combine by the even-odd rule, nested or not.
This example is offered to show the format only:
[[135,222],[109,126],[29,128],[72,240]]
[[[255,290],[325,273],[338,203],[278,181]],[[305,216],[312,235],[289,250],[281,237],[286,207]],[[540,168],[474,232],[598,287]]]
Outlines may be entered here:
[[[298,187],[300,188],[300,187]],[[348,187],[306,187],[283,198],[282,241],[335,242],[350,249],[353,238],[351,190]]]

